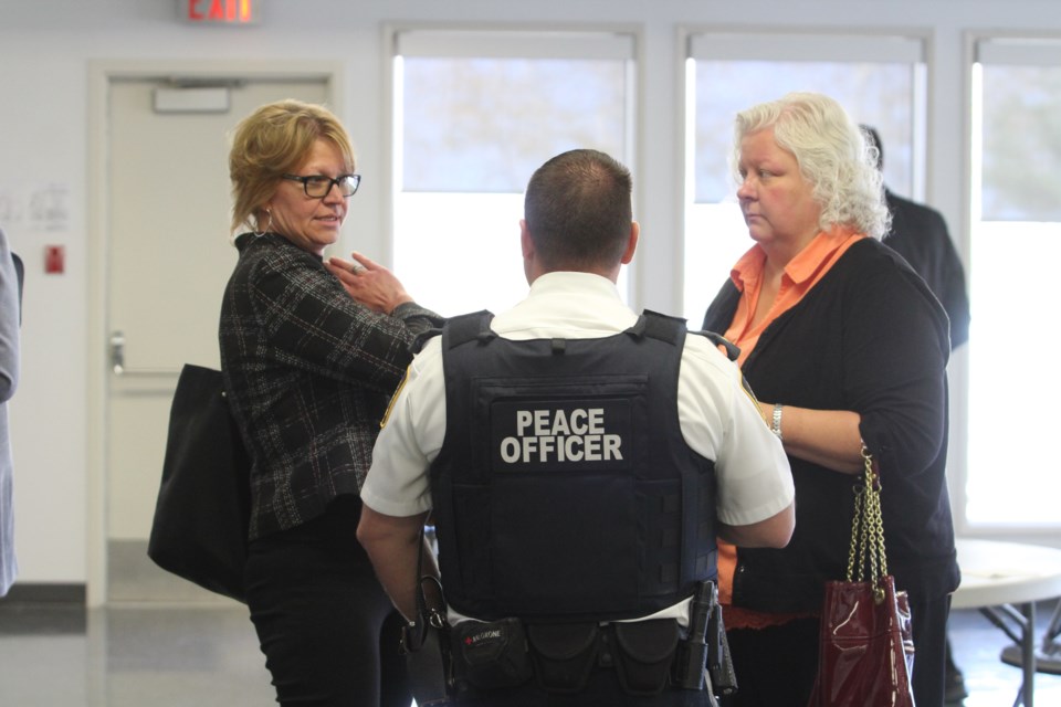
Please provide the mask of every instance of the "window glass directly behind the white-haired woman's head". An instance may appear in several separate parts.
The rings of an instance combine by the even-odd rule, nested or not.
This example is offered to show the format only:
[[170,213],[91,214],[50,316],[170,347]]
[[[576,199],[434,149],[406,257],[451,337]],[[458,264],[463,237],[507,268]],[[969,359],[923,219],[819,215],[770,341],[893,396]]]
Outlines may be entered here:
[[884,147],[889,188],[910,194],[913,183],[915,65],[895,63],[696,61],[687,105],[695,112],[687,136],[694,173],[685,211],[684,315],[704,312],[729,268],[748,247],[729,168],[733,120],[743,110],[790,91],[824,93],[859,123],[872,125]]

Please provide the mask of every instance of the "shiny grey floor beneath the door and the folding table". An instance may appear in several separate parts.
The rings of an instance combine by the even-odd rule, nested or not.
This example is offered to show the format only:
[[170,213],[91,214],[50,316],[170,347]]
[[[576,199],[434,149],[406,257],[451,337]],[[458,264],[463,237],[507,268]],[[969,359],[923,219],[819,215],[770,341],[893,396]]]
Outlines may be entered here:
[[[1046,625],[1052,606],[1040,608]],[[1008,639],[976,611],[953,614],[966,707],[1013,704]],[[225,604],[0,603],[2,707],[250,707],[273,704],[246,610]],[[1061,705],[1061,676],[1036,676],[1036,705]],[[922,706],[925,707],[925,706]]]

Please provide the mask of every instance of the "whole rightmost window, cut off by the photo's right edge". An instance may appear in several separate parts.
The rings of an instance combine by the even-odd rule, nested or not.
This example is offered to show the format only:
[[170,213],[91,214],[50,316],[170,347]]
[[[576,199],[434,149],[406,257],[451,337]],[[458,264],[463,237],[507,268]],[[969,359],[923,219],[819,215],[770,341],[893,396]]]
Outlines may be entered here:
[[1049,428],[1051,401],[1061,398],[1052,345],[1061,40],[979,40],[971,83],[966,521],[1057,528],[1061,477],[1042,443],[1039,411]]

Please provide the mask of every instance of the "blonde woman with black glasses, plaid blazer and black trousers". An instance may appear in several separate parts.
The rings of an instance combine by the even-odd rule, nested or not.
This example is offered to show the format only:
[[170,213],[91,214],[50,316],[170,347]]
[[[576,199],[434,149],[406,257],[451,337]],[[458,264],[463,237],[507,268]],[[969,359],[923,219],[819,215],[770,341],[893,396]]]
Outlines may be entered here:
[[356,276],[346,264],[348,285],[326,266],[360,182],[330,112],[262,106],[237,127],[229,167],[233,232],[246,232],[221,368],[253,462],[248,604],[277,701],[408,707],[400,620],[355,530],[409,344],[438,319],[368,258]]

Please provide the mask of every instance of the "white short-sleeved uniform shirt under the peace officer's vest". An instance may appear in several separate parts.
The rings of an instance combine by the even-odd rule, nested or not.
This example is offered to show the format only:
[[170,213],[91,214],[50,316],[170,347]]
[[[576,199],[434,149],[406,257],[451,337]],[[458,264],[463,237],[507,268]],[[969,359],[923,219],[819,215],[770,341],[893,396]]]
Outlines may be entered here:
[[[624,331],[637,320],[611,281],[557,272],[535,279],[527,298],[495,316],[491,329],[515,340],[592,339]],[[428,469],[445,436],[441,340],[428,341],[410,363],[376,441],[361,500],[377,513],[407,517],[431,508]],[[792,503],[792,476],[780,441],[744,391],[736,363],[705,337],[685,338],[677,407],[685,442],[715,462],[719,520],[749,525]],[[682,619],[685,603],[679,605]]]

